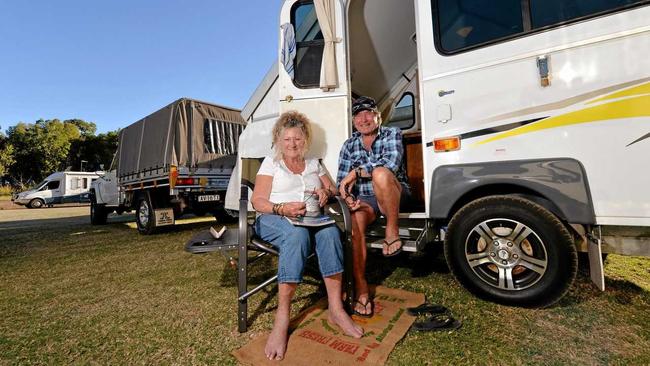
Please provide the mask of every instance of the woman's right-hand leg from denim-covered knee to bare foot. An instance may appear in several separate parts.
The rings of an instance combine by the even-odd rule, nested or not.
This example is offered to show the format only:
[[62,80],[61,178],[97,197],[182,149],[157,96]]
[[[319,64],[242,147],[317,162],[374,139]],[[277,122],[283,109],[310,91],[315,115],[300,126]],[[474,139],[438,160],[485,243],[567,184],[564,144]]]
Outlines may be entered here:
[[338,228],[326,226],[316,231],[316,255],[320,266],[329,304],[329,321],[341,327],[343,332],[354,338],[363,336],[363,328],[356,325],[345,312],[341,301],[343,282],[343,248]]

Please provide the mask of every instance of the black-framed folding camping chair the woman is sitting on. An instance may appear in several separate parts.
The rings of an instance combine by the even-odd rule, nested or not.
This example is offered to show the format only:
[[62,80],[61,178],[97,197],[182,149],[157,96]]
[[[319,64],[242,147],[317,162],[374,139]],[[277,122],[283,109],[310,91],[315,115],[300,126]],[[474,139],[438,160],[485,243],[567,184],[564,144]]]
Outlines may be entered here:
[[[257,236],[253,228],[255,211],[249,211],[248,197],[253,192],[255,176],[261,160],[243,158],[240,163],[242,179],[238,230],[227,230],[222,238],[216,240],[210,236],[209,232],[201,232],[187,243],[186,250],[191,253],[206,253],[237,249],[237,325],[239,332],[243,333],[248,329],[248,299],[269,285],[274,284],[278,277],[275,274],[256,287],[249,289],[249,267],[268,255],[278,256],[279,252],[271,243]],[[354,283],[352,276],[352,220],[350,211],[343,199],[338,196],[330,199],[326,209],[334,210],[336,214],[332,214],[332,216],[336,218],[337,226],[341,231],[341,242],[344,250],[343,290],[346,293],[344,305],[348,312],[351,312],[354,299]],[[249,258],[251,253],[255,253],[255,255]]]

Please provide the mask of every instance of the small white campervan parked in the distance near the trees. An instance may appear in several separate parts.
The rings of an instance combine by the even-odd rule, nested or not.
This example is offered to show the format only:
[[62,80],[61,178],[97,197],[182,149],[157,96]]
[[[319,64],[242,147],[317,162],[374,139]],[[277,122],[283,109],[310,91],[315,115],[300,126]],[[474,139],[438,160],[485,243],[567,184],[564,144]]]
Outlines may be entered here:
[[89,203],[90,183],[103,172],[56,172],[33,189],[14,195],[11,200],[28,208],[41,208],[61,203]]

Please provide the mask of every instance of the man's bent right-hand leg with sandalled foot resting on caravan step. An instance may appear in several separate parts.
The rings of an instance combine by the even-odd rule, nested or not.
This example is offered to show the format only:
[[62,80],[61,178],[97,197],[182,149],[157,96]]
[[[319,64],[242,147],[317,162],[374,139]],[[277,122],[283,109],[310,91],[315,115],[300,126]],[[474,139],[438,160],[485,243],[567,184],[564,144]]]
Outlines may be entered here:
[[[386,216],[386,242],[391,243],[399,238],[399,200],[402,185],[390,169],[378,167],[372,171],[372,189],[381,212]],[[394,253],[401,245],[401,241],[384,245],[384,255]]]

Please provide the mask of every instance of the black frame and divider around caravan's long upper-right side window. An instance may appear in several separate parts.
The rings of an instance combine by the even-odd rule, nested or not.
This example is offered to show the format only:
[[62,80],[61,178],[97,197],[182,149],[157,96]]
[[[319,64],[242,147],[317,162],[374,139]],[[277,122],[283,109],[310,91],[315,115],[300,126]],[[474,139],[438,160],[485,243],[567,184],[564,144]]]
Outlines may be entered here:
[[492,45],[495,45],[495,44],[499,44],[499,43],[503,43],[503,42],[507,42],[507,41],[511,41],[511,40],[515,40],[515,39],[519,39],[519,38],[528,37],[530,35],[546,32],[546,31],[549,31],[549,30],[552,30],[552,29],[555,29],[555,28],[561,28],[561,27],[565,27],[567,25],[581,23],[581,22],[589,21],[589,20],[592,20],[592,19],[595,19],[595,18],[600,18],[600,17],[603,17],[603,16],[608,16],[608,15],[615,14],[615,13],[621,13],[621,12],[628,11],[628,10],[631,10],[631,9],[634,9],[634,8],[640,8],[640,7],[643,7],[643,6],[650,5],[650,0],[645,0],[645,1],[635,3],[635,4],[621,6],[621,7],[618,7],[618,8],[609,9],[609,10],[601,11],[601,12],[598,12],[598,13],[593,13],[593,14],[582,16],[582,17],[573,18],[573,19],[570,19],[570,20],[567,20],[567,21],[564,21],[564,22],[550,24],[550,25],[547,25],[547,26],[544,26],[544,27],[534,28],[533,29],[532,28],[532,14],[531,14],[530,1],[531,0],[521,0],[522,23],[523,23],[523,27],[524,27],[523,32],[512,34],[512,35],[505,36],[505,37],[495,38],[493,40],[490,40],[490,41],[487,41],[487,42],[482,42],[482,43],[477,43],[475,45],[471,45],[471,46],[468,46],[468,47],[462,47],[462,48],[458,48],[456,50],[447,51],[442,47],[442,37],[441,37],[441,33],[440,33],[440,22],[438,21],[439,20],[439,11],[438,11],[438,2],[439,2],[439,0],[431,0],[431,20],[432,20],[432,26],[433,26],[433,44],[434,44],[434,47],[435,47],[436,51],[442,56],[454,56],[454,55],[457,55],[457,54],[461,54],[461,53],[465,53],[465,52],[474,51],[474,50],[477,50],[477,49],[489,47],[489,46],[492,46]]

